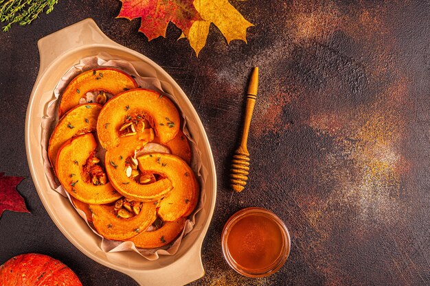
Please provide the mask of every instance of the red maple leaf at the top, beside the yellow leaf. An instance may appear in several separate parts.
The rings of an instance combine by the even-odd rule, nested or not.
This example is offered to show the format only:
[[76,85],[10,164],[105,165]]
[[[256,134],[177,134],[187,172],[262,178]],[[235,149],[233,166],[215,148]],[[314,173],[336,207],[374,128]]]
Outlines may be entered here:
[[194,21],[201,20],[194,8],[194,0],[120,0],[122,7],[117,18],[133,20],[142,18],[139,31],[148,40],[166,36],[169,22],[177,25],[188,36]]

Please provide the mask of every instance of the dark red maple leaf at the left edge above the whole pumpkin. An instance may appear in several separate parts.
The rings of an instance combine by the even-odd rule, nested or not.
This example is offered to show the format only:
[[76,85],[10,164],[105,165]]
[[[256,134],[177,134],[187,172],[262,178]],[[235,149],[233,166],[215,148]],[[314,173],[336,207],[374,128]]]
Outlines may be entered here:
[[5,210],[30,213],[27,207],[25,207],[23,197],[16,191],[16,186],[24,177],[9,177],[3,175],[3,173],[0,173],[0,217]]

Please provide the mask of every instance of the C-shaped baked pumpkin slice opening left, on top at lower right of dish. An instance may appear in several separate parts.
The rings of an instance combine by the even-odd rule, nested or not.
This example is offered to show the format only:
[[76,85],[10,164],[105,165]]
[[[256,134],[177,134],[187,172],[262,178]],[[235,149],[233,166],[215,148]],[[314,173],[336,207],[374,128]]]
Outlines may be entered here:
[[158,215],[164,222],[174,222],[194,211],[199,182],[184,160],[172,154],[152,153],[137,157],[137,161],[140,171],[162,174],[172,182],[172,191],[159,203]]

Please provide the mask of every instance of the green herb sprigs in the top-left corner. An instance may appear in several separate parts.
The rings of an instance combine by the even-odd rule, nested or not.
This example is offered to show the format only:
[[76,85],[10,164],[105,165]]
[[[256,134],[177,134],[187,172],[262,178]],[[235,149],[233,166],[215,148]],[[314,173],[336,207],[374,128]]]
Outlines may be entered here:
[[0,22],[8,23],[3,32],[8,32],[12,24],[28,25],[46,9],[46,14],[54,10],[58,0],[0,0]]

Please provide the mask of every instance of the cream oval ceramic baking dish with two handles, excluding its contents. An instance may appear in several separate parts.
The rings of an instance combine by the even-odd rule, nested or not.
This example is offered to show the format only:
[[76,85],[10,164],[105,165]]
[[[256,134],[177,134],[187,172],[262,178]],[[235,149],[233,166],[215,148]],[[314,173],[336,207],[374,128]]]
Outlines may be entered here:
[[[38,195],[61,232],[88,257],[114,270],[131,276],[140,285],[184,285],[204,275],[201,262],[201,246],[210,224],[216,200],[216,173],[209,141],[199,116],[188,97],[176,82],[155,62],[140,53],[118,45],[98,28],[92,19],[80,21],[61,29],[38,41],[41,56],[38,77],[34,84],[25,119],[25,147],[28,165]],[[157,78],[168,82],[174,89],[178,104],[195,128],[191,134],[199,134],[197,143],[201,150],[203,166],[207,169],[203,209],[196,215],[196,224],[186,235],[178,252],[172,256],[161,256],[157,261],[147,261],[134,252],[106,253],[100,249],[100,237],[90,228],[64,198],[49,187],[43,168],[41,150],[41,120],[47,102],[53,98],[54,87],[60,77],[80,59],[106,52],[128,61],[143,61],[157,71]]]

